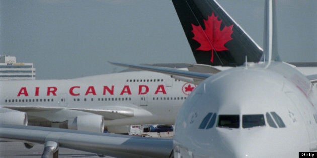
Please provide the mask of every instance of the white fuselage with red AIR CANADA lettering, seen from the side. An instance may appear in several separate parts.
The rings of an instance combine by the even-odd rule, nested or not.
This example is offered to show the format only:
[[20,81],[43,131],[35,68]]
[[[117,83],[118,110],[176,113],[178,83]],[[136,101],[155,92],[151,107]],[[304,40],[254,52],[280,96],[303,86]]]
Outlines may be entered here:
[[88,113],[102,115],[105,126],[174,124],[194,87],[168,75],[145,71],[66,80],[0,81],[0,105],[27,112],[29,124],[34,125],[63,122]]

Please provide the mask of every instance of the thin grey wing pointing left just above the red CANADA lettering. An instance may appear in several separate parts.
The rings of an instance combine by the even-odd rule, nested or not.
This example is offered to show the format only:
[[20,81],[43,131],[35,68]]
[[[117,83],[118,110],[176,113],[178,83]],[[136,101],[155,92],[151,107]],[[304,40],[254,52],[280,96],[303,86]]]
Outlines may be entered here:
[[153,72],[160,72],[160,73],[168,74],[171,76],[176,75],[176,76],[188,77],[188,78],[197,79],[197,80],[201,80],[201,81],[212,75],[210,73],[192,72],[192,71],[179,70],[179,69],[173,69],[173,68],[167,68],[167,67],[122,64],[122,63],[115,63],[115,62],[109,62],[109,63],[111,63],[113,65],[117,65],[117,66],[128,67],[128,68],[135,68],[135,69],[141,69],[141,70],[147,70],[147,71],[153,71]]

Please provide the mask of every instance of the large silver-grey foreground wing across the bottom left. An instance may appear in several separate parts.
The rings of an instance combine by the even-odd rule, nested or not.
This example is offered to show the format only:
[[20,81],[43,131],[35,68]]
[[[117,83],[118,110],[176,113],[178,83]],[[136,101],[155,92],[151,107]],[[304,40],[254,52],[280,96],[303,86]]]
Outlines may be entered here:
[[0,124],[0,139],[44,144],[44,157],[58,154],[59,147],[114,157],[168,157],[173,148],[172,139],[21,125]]

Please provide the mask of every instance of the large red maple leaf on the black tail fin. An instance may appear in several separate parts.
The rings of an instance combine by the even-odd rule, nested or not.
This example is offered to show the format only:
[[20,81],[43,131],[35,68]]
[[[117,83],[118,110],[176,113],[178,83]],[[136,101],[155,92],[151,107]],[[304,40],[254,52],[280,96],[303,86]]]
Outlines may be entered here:
[[231,34],[233,33],[231,26],[224,26],[220,30],[222,20],[218,20],[218,17],[215,16],[212,12],[211,16],[208,16],[207,20],[204,20],[205,30],[202,29],[200,25],[195,26],[192,24],[194,33],[193,39],[200,43],[200,47],[196,50],[201,51],[210,51],[211,50],[211,59],[213,63],[213,50],[215,51],[225,51],[228,50],[224,44],[232,40]]

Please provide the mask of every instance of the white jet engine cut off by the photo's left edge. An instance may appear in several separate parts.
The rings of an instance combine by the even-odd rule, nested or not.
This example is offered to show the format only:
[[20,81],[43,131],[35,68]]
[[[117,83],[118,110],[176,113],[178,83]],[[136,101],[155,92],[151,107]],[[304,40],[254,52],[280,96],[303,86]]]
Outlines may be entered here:
[[28,115],[25,112],[0,108],[0,124],[28,125]]

